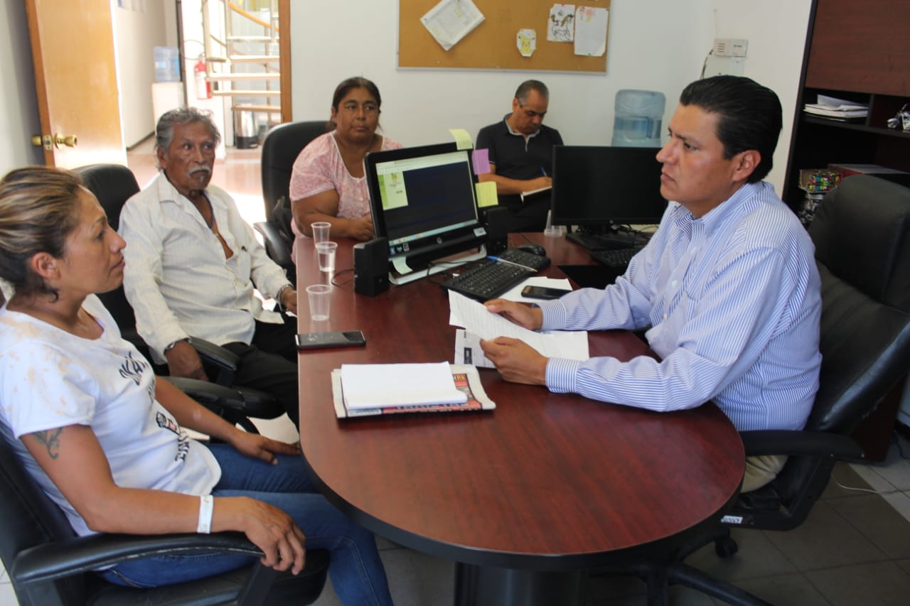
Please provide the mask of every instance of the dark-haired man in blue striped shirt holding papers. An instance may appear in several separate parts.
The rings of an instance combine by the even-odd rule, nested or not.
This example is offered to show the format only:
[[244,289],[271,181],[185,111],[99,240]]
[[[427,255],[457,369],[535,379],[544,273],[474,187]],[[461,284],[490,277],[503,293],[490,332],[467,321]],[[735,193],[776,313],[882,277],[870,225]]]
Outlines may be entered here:
[[[762,181],[781,125],[777,96],[749,78],[686,86],[657,155],[670,202],[626,273],[540,307],[487,303],[531,329],[648,328],[660,360],[547,359],[520,340],[482,342],[502,377],[659,411],[713,399],[737,429],[802,429],[818,389],[820,280],[812,241]],[[784,460],[747,460],[743,490]]]

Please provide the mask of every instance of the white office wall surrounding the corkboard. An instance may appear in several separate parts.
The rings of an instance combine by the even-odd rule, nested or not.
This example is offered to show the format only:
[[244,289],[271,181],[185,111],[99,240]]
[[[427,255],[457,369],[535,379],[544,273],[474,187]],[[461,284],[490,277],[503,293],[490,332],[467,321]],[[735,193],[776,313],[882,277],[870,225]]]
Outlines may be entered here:
[[450,139],[452,127],[476,136],[510,111],[515,87],[535,77],[550,87],[547,124],[567,144],[610,145],[616,91],[662,91],[665,127],[682,87],[700,76],[714,37],[742,37],[749,40],[744,75],[773,88],[784,104],[771,175],[781,189],[811,0],[612,0],[605,75],[399,69],[398,4],[310,0],[300,10],[292,3],[295,120],[328,119],[335,86],[365,76],[382,93],[386,134],[407,146],[438,143]]

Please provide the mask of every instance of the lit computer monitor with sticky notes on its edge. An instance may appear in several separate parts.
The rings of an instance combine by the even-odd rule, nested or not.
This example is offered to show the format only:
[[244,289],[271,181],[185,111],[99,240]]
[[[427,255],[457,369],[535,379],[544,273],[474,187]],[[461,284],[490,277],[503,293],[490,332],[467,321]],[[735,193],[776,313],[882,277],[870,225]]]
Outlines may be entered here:
[[454,143],[367,154],[369,204],[378,237],[389,240],[389,279],[395,284],[451,267],[434,260],[477,249],[487,237],[480,223],[471,150]]

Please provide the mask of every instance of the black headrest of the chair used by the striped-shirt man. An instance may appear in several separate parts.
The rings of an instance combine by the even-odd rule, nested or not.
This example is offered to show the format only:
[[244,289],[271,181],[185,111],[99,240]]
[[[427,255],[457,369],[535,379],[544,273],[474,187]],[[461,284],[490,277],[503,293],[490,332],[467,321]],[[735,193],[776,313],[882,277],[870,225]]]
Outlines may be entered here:
[[867,175],[828,192],[809,234],[815,258],[886,305],[910,309],[910,189]]

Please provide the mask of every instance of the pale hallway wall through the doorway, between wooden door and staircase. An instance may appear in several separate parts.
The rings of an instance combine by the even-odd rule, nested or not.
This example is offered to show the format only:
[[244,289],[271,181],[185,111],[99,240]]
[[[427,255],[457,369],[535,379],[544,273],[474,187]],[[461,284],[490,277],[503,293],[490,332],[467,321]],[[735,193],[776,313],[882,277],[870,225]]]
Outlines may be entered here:
[[[166,3],[152,0],[126,2],[122,7],[117,4],[117,0],[111,0],[120,127],[124,146],[132,147],[155,132],[157,117],[152,111],[154,49],[167,45]],[[170,12],[173,15],[173,10]],[[176,21],[173,23],[176,29]]]

